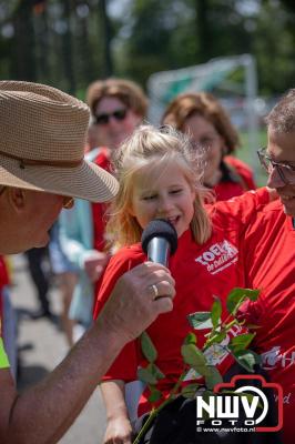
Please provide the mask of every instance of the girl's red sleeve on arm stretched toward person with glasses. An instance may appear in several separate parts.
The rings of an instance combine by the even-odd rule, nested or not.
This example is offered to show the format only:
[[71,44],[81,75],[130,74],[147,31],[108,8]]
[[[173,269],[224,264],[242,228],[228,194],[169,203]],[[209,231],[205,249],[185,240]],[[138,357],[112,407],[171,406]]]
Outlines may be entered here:
[[269,203],[269,193],[266,188],[232,198],[228,201],[216,202],[206,205],[212,218],[213,225],[236,230],[241,226],[246,230],[256,213]]

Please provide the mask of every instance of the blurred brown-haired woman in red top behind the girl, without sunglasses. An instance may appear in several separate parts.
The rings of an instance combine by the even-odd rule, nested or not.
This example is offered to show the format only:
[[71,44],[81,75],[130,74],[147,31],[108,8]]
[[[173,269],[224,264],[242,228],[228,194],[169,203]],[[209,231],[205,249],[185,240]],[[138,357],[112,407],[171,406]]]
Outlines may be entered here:
[[167,105],[162,122],[189,133],[195,148],[204,151],[204,184],[214,190],[217,201],[255,190],[250,167],[232,155],[240,145],[238,133],[213,94],[179,94]]

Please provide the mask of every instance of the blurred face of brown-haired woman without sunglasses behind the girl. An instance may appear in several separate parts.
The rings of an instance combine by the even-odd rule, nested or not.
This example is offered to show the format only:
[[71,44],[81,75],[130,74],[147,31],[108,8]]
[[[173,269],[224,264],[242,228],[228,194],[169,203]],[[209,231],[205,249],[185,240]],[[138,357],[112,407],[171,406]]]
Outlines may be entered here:
[[223,138],[214,125],[202,115],[193,114],[186,119],[183,131],[191,134],[195,144],[205,149],[204,183],[214,186],[220,180],[220,164],[223,157]]

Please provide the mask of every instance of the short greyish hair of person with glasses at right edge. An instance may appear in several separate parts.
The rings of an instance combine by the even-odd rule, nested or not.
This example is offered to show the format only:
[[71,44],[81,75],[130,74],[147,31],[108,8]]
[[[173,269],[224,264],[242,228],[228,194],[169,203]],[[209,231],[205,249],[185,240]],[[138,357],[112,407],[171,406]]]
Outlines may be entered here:
[[291,89],[265,118],[267,127],[277,133],[295,131],[295,89]]

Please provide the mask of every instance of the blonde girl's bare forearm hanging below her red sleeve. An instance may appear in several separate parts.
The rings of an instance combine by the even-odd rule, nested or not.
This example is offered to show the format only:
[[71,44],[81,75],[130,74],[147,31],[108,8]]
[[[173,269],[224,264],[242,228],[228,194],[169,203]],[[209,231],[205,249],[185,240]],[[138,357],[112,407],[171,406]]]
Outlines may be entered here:
[[131,444],[132,426],[129,421],[123,381],[104,381],[101,392],[106,408],[106,431],[103,444]]

